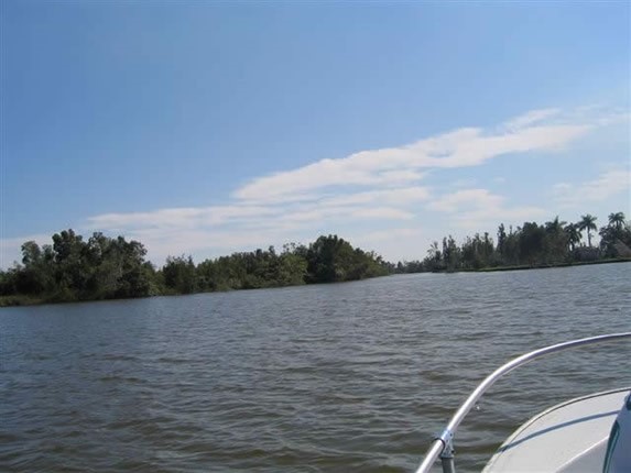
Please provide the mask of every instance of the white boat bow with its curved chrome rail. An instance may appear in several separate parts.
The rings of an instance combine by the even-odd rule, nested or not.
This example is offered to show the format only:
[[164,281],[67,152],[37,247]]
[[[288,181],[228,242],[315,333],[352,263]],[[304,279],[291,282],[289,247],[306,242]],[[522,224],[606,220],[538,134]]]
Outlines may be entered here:
[[[631,339],[610,333],[557,343],[525,353],[487,376],[434,439],[416,473],[432,471],[438,458],[444,473],[454,473],[454,438],[467,414],[502,376],[541,356],[563,350]],[[492,455],[483,473],[631,473],[631,387],[594,393],[553,406],[511,435]]]

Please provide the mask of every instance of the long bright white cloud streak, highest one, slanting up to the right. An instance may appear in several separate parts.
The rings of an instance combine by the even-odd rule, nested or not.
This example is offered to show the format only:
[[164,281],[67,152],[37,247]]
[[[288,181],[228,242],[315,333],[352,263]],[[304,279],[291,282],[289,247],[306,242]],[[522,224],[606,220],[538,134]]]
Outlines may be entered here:
[[558,114],[556,109],[536,110],[487,133],[478,128],[464,128],[399,147],[322,160],[255,178],[237,189],[233,197],[260,204],[331,187],[417,182],[425,176],[422,169],[479,166],[505,154],[559,151],[594,127],[590,122],[541,123],[555,114]]

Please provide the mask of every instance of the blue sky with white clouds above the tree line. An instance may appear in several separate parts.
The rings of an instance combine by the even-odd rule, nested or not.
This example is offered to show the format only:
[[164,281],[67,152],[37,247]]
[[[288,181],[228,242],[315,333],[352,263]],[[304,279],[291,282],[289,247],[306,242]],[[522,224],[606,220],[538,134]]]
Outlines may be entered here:
[[0,267],[631,216],[629,2],[0,2]]

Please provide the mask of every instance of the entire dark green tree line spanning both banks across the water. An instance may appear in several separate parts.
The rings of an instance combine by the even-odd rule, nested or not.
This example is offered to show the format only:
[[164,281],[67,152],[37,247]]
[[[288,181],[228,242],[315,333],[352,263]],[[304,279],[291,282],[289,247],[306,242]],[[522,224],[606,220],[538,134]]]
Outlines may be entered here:
[[[308,245],[285,244],[281,252],[270,246],[199,264],[191,256],[170,256],[156,268],[145,260],[146,250],[138,241],[99,232],[84,240],[69,229],[55,233],[53,244],[22,244],[22,262],[0,271],[0,306],[336,283],[393,273],[544,267],[630,258],[631,224],[624,213],[610,213],[600,229],[596,221],[596,217],[585,215],[575,223],[558,217],[543,224],[524,222],[514,229],[502,223],[497,240],[485,232],[457,244],[448,235],[442,244],[433,242],[423,260],[396,265],[329,234]],[[600,241],[592,245],[596,232]]]

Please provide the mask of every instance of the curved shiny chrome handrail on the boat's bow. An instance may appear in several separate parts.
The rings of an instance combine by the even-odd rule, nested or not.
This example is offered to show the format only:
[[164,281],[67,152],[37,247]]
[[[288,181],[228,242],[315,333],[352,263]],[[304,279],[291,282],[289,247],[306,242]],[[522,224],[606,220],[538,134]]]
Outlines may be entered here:
[[518,356],[514,360],[511,360],[510,362],[503,364],[502,366],[497,369],[494,372],[492,372],[489,376],[487,376],[485,378],[485,381],[482,381],[478,385],[478,387],[476,387],[476,389],[469,395],[467,400],[465,400],[465,403],[460,406],[460,408],[456,411],[456,414],[454,414],[454,417],[452,417],[452,420],[449,420],[449,424],[447,424],[447,427],[445,428],[445,430],[443,430],[443,432],[437,438],[435,438],[434,441],[432,442],[432,447],[429,448],[429,450],[425,454],[423,463],[421,463],[418,469],[416,469],[416,473],[428,472],[438,457],[440,457],[440,459],[443,461],[443,472],[453,473],[455,471],[453,442],[454,442],[454,436],[456,433],[456,430],[458,429],[458,426],[460,425],[463,419],[467,416],[467,414],[469,414],[469,411],[478,403],[480,397],[482,397],[482,394],[485,394],[489,389],[489,387],[491,387],[496,383],[496,381],[498,381],[504,374],[513,371],[518,366],[521,366],[523,364],[531,362],[532,360],[534,360],[536,358],[540,358],[540,356],[543,356],[543,355],[546,355],[550,353],[572,349],[575,346],[581,346],[581,345],[586,345],[586,344],[606,342],[606,341],[611,341],[611,340],[620,340],[620,339],[625,339],[625,338],[631,338],[631,332],[610,333],[610,334],[606,334],[606,336],[589,337],[587,339],[573,340],[570,342],[557,343],[554,345],[544,346],[542,349],[534,350],[530,353]]

